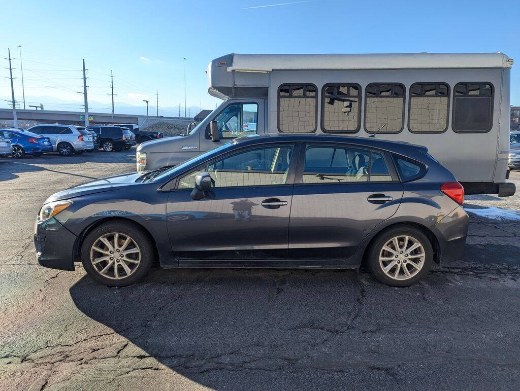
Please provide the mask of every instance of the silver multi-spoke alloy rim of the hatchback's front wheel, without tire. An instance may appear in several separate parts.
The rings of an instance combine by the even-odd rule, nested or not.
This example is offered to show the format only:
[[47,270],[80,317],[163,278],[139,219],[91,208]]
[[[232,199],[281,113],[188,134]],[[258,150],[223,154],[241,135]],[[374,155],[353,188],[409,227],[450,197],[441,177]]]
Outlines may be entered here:
[[90,263],[101,276],[121,280],[137,270],[141,250],[130,236],[111,232],[94,242],[90,248]]

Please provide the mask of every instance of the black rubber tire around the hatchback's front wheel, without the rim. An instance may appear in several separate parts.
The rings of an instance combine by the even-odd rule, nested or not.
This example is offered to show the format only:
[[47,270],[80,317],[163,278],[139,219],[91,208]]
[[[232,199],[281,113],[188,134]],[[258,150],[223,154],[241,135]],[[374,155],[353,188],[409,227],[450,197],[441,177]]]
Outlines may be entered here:
[[[128,277],[111,279],[102,276],[90,261],[90,249],[103,235],[118,232],[131,237],[141,250],[141,260],[136,269]],[[155,257],[153,242],[138,225],[132,222],[108,221],[96,227],[90,232],[81,246],[81,260],[83,267],[90,277],[107,287],[126,287],[145,277],[152,266]],[[119,267],[119,266],[118,266]]]

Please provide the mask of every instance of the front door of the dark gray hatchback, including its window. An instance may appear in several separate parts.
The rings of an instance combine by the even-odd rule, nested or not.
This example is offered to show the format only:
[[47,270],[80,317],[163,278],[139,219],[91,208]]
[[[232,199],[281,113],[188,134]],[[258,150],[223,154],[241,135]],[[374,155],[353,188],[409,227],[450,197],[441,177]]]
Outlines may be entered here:
[[[179,265],[200,260],[287,257],[295,144],[230,152],[179,178],[166,210]],[[193,200],[197,173],[214,179],[210,194]]]

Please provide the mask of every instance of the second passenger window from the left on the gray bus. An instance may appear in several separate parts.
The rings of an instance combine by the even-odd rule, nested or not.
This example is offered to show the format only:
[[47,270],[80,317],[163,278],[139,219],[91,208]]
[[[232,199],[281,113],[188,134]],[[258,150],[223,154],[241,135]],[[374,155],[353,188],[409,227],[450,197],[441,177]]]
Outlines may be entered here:
[[321,104],[323,132],[357,132],[361,116],[359,98],[357,84],[326,84]]

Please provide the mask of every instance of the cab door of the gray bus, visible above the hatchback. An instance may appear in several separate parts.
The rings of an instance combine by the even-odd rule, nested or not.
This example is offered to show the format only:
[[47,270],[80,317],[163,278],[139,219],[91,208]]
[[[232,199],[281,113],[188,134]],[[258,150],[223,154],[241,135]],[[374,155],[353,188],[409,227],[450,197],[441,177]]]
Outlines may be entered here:
[[227,101],[222,110],[212,119],[217,122],[220,141],[210,137],[210,123],[200,132],[200,153],[209,151],[232,139],[248,134],[264,133],[264,99]]

